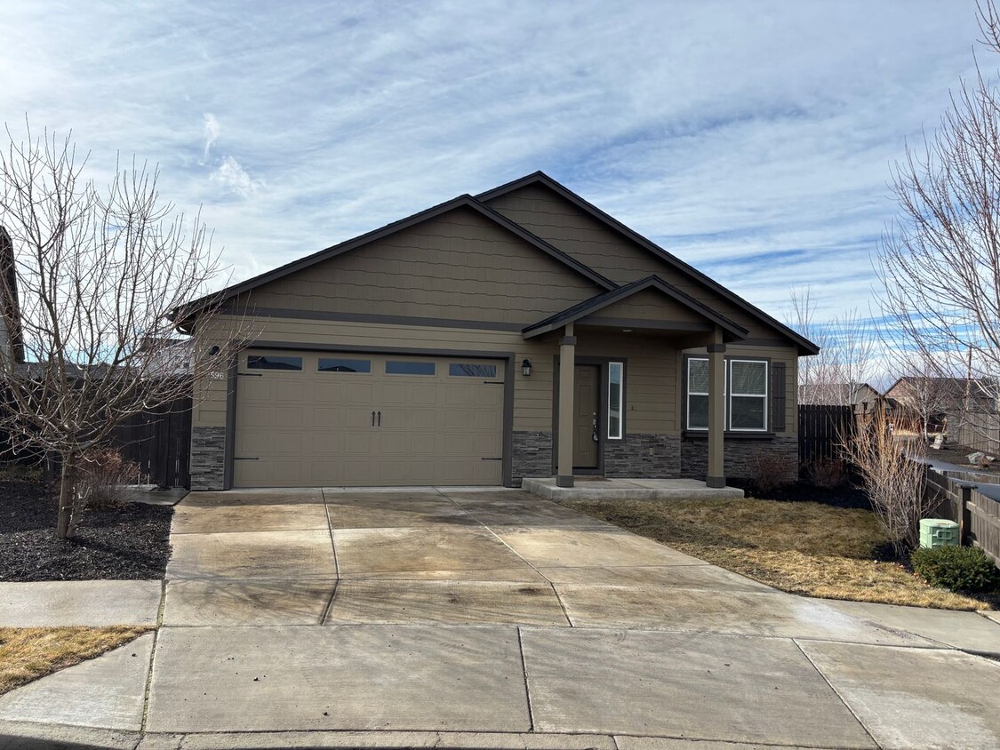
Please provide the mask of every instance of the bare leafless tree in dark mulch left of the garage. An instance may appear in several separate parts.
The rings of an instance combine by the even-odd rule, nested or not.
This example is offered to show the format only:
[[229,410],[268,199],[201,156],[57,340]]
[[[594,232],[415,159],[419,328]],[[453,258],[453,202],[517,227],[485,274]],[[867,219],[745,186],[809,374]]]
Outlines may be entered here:
[[86,503],[88,454],[126,417],[190,393],[192,380],[218,377],[228,362],[224,351],[191,351],[179,365],[168,318],[220,270],[204,224],[161,199],[155,168],[133,161],[99,189],[85,164],[70,138],[32,139],[30,128],[0,153],[10,243],[0,316],[24,349],[24,362],[0,357],[0,428],[15,450],[61,459],[61,538],[74,535]]

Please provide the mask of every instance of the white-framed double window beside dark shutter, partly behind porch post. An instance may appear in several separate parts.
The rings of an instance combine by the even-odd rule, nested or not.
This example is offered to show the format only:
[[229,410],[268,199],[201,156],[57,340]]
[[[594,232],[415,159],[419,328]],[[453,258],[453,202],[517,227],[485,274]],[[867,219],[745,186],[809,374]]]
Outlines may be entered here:
[[[767,360],[728,359],[724,386],[725,425],[733,432],[767,431]],[[708,358],[687,359],[686,427],[708,429]]]

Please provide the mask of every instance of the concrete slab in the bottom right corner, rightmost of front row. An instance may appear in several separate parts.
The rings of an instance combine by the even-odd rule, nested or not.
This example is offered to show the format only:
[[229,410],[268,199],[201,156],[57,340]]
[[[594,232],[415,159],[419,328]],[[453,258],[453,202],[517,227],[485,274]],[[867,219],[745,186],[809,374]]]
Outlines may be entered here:
[[799,641],[886,750],[1000,747],[1000,665],[960,651]]

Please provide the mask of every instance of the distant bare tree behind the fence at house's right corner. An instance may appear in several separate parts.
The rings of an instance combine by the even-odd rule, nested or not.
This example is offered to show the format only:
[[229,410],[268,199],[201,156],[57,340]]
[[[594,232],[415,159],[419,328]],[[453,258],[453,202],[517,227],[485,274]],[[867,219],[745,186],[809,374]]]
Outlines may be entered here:
[[878,337],[857,309],[820,323],[809,288],[793,289],[789,325],[819,345],[819,354],[799,359],[799,403],[854,404],[857,388],[874,375]]

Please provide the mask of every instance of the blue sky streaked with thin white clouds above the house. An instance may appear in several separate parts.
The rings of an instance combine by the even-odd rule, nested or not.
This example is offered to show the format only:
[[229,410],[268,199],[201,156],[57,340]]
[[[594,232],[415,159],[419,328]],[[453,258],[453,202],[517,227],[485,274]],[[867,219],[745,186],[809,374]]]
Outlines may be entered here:
[[72,129],[98,180],[159,163],[233,280],[541,169],[819,318],[873,304],[890,164],[978,36],[974,0],[6,0],[0,29],[0,117]]

